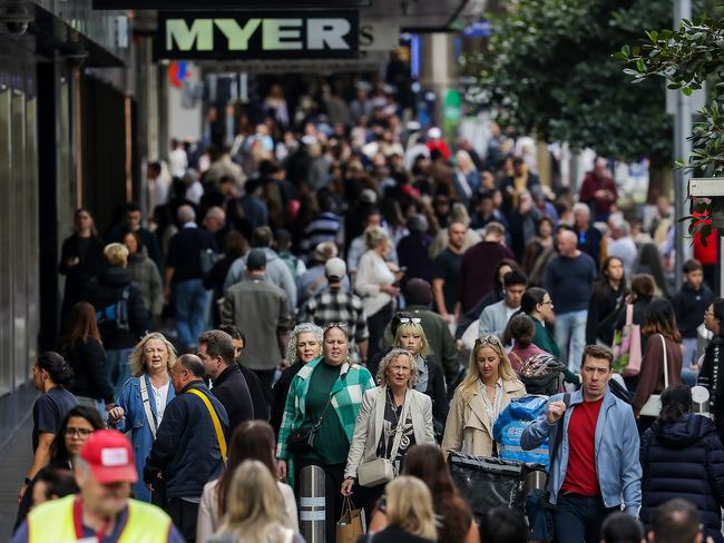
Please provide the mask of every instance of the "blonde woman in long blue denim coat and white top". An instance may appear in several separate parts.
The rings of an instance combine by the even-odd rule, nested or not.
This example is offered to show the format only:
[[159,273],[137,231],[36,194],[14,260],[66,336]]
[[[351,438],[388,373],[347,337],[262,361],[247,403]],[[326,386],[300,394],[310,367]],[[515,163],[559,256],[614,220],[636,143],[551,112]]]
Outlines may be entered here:
[[150,502],[150,491],[143,477],[146,457],[156,440],[166,406],[176,396],[170,383],[170,368],[175,362],[176,351],[163,334],[146,334],[130,355],[131,377],[124,383],[117,407],[108,412],[110,426],[119,432],[130,432],[138,471],[134,495],[144,502]]

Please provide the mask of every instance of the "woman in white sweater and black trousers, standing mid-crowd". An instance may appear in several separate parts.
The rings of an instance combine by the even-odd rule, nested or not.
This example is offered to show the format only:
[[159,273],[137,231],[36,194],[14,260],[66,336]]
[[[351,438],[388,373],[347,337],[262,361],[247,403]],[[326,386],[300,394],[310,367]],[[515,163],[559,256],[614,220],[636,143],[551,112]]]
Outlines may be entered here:
[[402,274],[394,264],[385,261],[392,240],[384,228],[369,227],[364,230],[364,243],[368,250],[360,258],[354,290],[362,298],[362,307],[368,317],[368,357],[372,358],[380,351],[384,327],[392,318],[394,299],[400,293],[395,283],[402,278]]

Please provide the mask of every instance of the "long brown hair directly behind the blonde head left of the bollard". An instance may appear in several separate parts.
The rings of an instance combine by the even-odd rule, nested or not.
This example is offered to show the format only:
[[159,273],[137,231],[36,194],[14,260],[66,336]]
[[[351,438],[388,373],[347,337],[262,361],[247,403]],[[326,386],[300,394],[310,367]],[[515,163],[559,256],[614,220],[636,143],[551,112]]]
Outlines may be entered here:
[[246,460],[257,460],[276,477],[274,464],[274,448],[276,440],[274,430],[266,421],[246,421],[232,434],[228,446],[228,462],[216,486],[218,500],[218,516],[226,513],[227,494],[232,484],[234,472]]

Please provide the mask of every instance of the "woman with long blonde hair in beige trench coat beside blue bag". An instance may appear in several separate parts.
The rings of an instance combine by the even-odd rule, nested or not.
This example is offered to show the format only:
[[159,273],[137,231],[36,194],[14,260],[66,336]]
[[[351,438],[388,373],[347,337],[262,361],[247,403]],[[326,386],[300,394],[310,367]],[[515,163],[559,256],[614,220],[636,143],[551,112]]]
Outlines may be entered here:
[[492,427],[498,415],[511,399],[525,394],[498,336],[479,338],[472,347],[468,376],[452,397],[442,448],[446,453],[493,456]]

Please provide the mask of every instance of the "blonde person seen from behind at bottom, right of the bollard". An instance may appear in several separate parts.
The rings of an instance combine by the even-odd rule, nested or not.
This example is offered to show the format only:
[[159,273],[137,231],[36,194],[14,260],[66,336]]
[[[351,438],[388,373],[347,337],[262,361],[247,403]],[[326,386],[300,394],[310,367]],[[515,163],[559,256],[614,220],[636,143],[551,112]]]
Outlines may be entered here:
[[365,542],[427,543],[438,541],[438,527],[428,486],[417,477],[404,475],[388,484],[387,516],[389,525],[369,534]]

